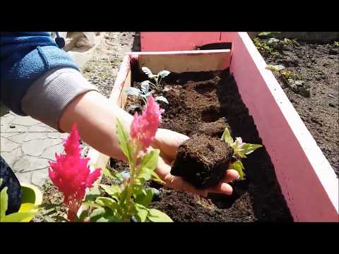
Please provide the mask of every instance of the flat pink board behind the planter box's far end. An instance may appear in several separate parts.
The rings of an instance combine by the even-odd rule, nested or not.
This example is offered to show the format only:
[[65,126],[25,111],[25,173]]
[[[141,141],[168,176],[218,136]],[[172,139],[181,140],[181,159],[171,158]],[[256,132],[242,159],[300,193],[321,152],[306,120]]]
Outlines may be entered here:
[[142,52],[194,50],[220,42],[221,32],[141,32]]

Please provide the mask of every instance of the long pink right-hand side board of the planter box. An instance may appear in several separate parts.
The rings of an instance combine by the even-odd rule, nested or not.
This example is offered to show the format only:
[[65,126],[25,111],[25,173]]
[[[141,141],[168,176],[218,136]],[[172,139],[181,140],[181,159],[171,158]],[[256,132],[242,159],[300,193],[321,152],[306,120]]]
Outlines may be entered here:
[[297,222],[338,222],[338,179],[245,32],[232,40],[231,72]]

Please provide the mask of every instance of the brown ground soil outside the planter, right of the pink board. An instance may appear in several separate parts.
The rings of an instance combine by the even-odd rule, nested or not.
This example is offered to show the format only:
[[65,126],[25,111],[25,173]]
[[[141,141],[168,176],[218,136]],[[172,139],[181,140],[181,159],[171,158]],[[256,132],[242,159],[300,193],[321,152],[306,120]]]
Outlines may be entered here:
[[[259,39],[260,42],[267,40]],[[292,79],[310,87],[310,97],[291,90],[280,73],[274,75],[305,126],[339,176],[339,46],[299,42],[273,47],[273,54],[259,52],[266,63],[283,64]]]

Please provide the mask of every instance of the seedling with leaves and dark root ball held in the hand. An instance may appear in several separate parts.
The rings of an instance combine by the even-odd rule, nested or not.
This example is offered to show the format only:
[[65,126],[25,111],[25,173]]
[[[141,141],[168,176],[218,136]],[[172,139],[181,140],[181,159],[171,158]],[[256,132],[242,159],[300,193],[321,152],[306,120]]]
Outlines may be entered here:
[[209,188],[217,185],[225,176],[225,169],[235,169],[239,179],[244,178],[242,159],[262,145],[242,142],[233,138],[225,128],[222,138],[207,135],[193,135],[179,146],[171,174],[182,176],[196,188]]

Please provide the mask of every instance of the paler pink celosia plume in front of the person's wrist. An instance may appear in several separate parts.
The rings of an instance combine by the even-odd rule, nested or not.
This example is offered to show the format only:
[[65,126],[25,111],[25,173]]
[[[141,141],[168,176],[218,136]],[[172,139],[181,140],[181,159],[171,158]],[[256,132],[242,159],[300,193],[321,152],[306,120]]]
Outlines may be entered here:
[[143,151],[153,142],[163,111],[164,109],[160,109],[153,96],[150,95],[143,114],[141,116],[134,114],[131,123],[131,138],[143,148]]

